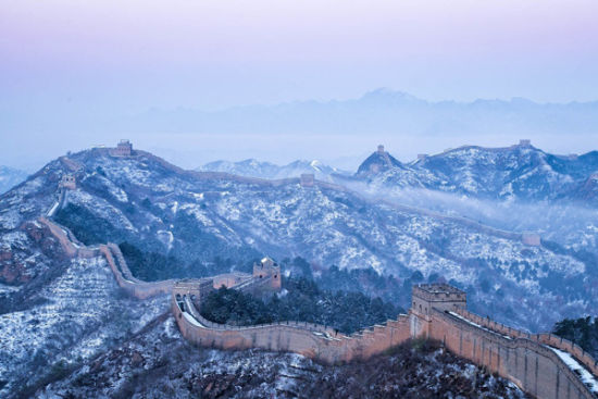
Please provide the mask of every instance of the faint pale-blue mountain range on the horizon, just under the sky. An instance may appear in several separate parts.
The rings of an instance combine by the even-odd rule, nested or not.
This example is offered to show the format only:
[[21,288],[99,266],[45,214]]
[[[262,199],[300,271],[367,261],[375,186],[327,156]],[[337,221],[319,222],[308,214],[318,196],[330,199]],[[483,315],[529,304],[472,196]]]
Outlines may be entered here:
[[596,134],[598,101],[426,101],[401,91],[377,89],[349,100],[295,101],[214,112],[186,108],[151,109],[140,114],[63,110],[39,115],[13,111],[1,116],[7,132],[564,135]]

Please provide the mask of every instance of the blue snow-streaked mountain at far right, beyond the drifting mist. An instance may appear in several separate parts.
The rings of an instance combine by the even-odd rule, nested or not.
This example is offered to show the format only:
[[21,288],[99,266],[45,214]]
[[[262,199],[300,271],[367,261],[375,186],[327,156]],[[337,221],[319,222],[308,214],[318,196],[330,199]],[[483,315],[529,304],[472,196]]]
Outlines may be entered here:
[[372,158],[393,159],[376,151],[359,167],[357,175],[365,176],[372,186],[426,188],[493,200],[581,200],[598,205],[593,194],[598,151],[555,155],[522,141],[508,148],[464,146],[423,155],[410,164],[386,162],[386,167],[374,167],[377,163]]

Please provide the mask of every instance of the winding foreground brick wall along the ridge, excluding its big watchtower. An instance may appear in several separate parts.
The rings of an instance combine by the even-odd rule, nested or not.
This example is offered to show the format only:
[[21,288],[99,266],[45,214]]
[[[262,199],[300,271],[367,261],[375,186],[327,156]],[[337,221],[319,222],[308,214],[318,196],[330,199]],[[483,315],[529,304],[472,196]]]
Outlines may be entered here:
[[[177,288],[174,280],[148,283],[135,278],[116,245],[85,247],[73,242],[64,227],[45,217],[38,219],[38,222],[48,227],[68,257],[103,255],[119,286],[132,296],[146,299],[172,292],[171,307],[182,335],[199,346],[291,351],[325,363],[337,363],[366,359],[423,335],[443,341],[452,352],[486,366],[535,397],[598,398],[598,390],[593,391],[584,384],[551,349],[570,353],[596,378],[598,362],[578,346],[550,334],[530,335],[507,327],[470,313],[464,307],[454,307],[449,312],[428,302],[429,313],[427,308],[423,314],[412,307],[409,315],[401,314],[396,321],[350,336],[338,334],[327,326],[298,322],[257,326],[219,325],[202,317],[188,291]],[[265,279],[256,282],[264,284]]]

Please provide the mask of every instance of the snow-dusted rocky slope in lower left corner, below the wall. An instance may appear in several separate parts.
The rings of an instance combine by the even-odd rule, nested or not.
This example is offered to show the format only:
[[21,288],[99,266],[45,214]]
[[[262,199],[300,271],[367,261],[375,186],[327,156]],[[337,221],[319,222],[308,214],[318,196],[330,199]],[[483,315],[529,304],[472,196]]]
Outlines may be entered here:
[[139,332],[167,298],[127,298],[101,258],[54,260],[20,287],[0,285],[0,397],[39,387]]

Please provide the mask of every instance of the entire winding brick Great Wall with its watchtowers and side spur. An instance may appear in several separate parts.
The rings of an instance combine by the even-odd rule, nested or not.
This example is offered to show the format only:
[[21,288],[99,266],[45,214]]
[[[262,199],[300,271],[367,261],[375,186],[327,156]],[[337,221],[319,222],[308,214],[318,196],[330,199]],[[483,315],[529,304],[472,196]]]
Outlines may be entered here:
[[[126,157],[126,153],[117,155]],[[212,178],[226,176],[213,174]],[[300,179],[287,180],[291,182],[285,183],[300,183]],[[322,184],[312,178],[308,182],[310,186]],[[71,188],[74,180],[67,184]],[[63,201],[63,192],[59,201]],[[133,276],[117,245],[86,247],[63,226],[46,217],[39,217],[38,223],[49,229],[70,258],[103,257],[119,286],[130,296],[146,299],[171,295],[172,312],[182,335],[198,346],[290,351],[334,364],[366,359],[409,339],[424,337],[443,342],[451,352],[511,381],[534,397],[598,398],[598,362],[581,347],[551,334],[532,335],[473,314],[466,310],[465,292],[446,284],[414,286],[408,314],[351,335],[339,334],[331,326],[294,321],[222,325],[201,316],[198,308],[203,299],[222,285],[256,294],[279,290],[281,269],[274,262],[262,260],[254,265],[252,274],[149,283]]]

